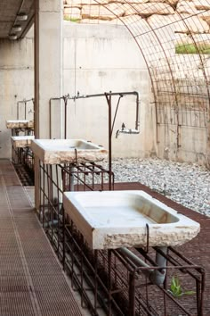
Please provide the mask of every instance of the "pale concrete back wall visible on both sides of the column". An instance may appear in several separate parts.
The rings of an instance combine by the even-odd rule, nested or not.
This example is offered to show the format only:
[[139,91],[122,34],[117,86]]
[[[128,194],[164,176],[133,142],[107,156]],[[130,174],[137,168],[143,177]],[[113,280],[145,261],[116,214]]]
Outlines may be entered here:
[[[149,75],[146,65],[139,54],[138,47],[135,46],[133,38],[129,36],[124,27],[100,26],[99,29],[94,29],[93,26],[80,26],[65,25],[64,35],[64,94],[69,93],[75,95],[77,90],[81,94],[103,93],[105,91],[133,91],[140,92],[141,98],[141,134],[138,136],[120,135],[115,138],[117,129],[121,128],[123,122],[127,128],[134,128],[135,123],[135,100],[132,98],[123,98],[120,103],[120,108],[117,114],[117,121],[113,134],[113,154],[127,156],[149,155],[151,151],[151,139],[153,133],[152,120],[152,106],[149,105],[150,97],[150,84]],[[106,33],[104,30],[106,29]],[[77,37],[77,40],[76,40]],[[89,38],[88,41],[86,38]],[[98,38],[97,38],[98,37]],[[30,37],[31,38],[31,37]],[[2,69],[0,76],[3,76],[4,89],[2,88],[2,134],[0,138],[1,157],[10,157],[11,145],[10,137],[11,132],[5,128],[5,121],[9,119],[16,119],[16,104],[13,93],[17,93],[19,88],[21,95],[17,97],[18,100],[23,98],[30,98],[33,96],[33,41],[28,43],[28,37],[24,38],[21,42],[12,43],[14,56],[17,55],[21,48],[21,54],[17,58],[12,59],[12,54],[4,53],[4,46],[1,46],[4,59],[8,58],[10,64],[10,71],[8,68]],[[126,49],[125,49],[126,47]],[[6,47],[5,47],[6,48]],[[24,51],[23,49],[26,49]],[[85,52],[85,58],[84,58]],[[77,58],[75,59],[75,54]],[[129,58],[127,58],[129,54]],[[23,56],[26,55],[26,58]],[[9,58],[10,56],[10,58]],[[116,58],[117,56],[117,58]],[[28,67],[21,69],[20,60],[31,63],[30,74],[28,74]],[[102,62],[101,62],[102,61]],[[3,62],[1,59],[0,62]],[[9,66],[8,66],[9,67]],[[13,74],[15,77],[13,78]],[[12,78],[12,88],[10,85],[6,88],[5,76]],[[21,81],[20,81],[21,76]],[[25,78],[25,82],[23,80]],[[114,80],[113,80],[114,79]],[[27,83],[31,82],[31,86]],[[50,82],[50,81],[49,81]],[[50,87],[47,82],[44,87]],[[9,83],[8,83],[9,84]],[[0,87],[1,89],[1,87]],[[6,92],[6,93],[5,93]],[[60,96],[55,90],[51,92],[51,96]],[[49,101],[49,100],[48,100]],[[6,104],[6,106],[3,106]],[[101,144],[108,148],[108,105],[104,98],[100,99],[85,99],[76,102],[77,106],[74,110],[72,102],[69,103],[69,128],[68,137],[93,140],[96,144]],[[113,115],[117,98],[113,99]],[[1,105],[0,105],[1,106]],[[48,121],[44,117],[49,111],[49,103],[45,103],[43,110],[40,112],[43,124],[42,129],[48,133]],[[52,125],[57,129],[58,122],[60,121],[60,103],[55,102],[53,105],[54,112],[52,112]],[[147,113],[145,112],[147,106]],[[5,113],[5,114],[3,114]],[[31,114],[32,117],[33,114]],[[145,121],[146,120],[146,121]],[[144,137],[144,126],[148,129],[147,139]],[[52,133],[52,137],[58,137],[57,131]],[[4,137],[4,138],[3,138]],[[4,139],[4,141],[3,141]]]

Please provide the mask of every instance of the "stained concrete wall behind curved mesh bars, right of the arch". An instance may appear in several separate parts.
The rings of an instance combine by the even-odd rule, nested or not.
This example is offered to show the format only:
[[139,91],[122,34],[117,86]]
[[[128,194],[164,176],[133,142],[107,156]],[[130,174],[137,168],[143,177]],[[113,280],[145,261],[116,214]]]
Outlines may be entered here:
[[[202,56],[202,59],[207,65],[208,55]],[[171,62],[174,79],[166,62],[159,61],[163,62],[162,72],[154,64],[158,157],[207,164],[209,96],[206,78],[210,75],[209,67],[205,69],[205,78],[200,60],[195,55],[174,54],[168,61]]]

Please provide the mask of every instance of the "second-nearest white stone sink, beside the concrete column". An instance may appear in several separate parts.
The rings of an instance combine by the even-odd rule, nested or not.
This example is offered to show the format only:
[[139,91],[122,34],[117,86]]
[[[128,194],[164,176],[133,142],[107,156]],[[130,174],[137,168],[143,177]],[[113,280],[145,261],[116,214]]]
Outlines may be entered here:
[[101,162],[108,151],[84,139],[35,139],[31,149],[45,164]]

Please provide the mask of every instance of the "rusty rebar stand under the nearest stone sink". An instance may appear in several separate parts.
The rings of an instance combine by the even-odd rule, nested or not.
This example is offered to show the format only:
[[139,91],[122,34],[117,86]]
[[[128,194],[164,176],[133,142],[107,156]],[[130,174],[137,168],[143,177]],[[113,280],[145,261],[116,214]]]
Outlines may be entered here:
[[[167,259],[167,278],[164,286],[156,286],[142,271],[163,268],[153,260],[158,248],[149,248],[149,253],[132,249],[134,254],[150,264],[149,268],[138,267],[117,249],[90,249],[72,221],[65,225],[65,235],[65,270],[93,315],[100,315],[101,308],[107,315],[203,315],[205,270],[174,248],[169,247],[168,254],[162,254]],[[175,296],[170,290],[174,276],[193,294]],[[190,304],[186,304],[186,300]],[[189,305],[190,308],[186,307]]]

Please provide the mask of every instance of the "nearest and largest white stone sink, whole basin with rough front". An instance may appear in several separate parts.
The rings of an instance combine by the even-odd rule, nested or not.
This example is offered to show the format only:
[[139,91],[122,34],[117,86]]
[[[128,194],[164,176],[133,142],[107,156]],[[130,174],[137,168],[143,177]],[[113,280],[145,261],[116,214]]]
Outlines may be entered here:
[[182,245],[199,224],[143,191],[65,192],[65,212],[93,249]]

